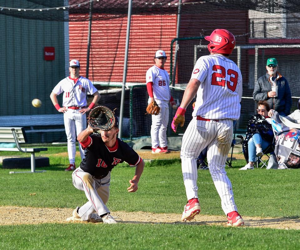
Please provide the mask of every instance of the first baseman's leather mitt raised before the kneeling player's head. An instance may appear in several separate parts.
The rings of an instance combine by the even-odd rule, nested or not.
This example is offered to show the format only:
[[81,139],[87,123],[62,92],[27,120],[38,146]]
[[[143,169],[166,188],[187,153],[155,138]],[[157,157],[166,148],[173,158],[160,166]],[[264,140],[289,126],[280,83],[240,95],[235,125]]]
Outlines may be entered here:
[[93,108],[88,116],[88,125],[93,131],[108,131],[115,125],[116,118],[114,112],[105,106]]

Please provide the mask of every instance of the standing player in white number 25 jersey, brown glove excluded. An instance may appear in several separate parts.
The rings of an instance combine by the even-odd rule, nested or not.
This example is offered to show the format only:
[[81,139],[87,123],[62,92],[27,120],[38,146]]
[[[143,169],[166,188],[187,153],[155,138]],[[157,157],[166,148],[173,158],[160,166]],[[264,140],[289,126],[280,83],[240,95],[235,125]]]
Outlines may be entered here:
[[154,62],[146,73],[148,104],[156,101],[160,108],[158,115],[152,115],[151,140],[152,153],[168,153],[167,126],[169,121],[169,102],[174,110],[177,109],[175,101],[170,94],[170,77],[163,68],[166,63],[166,53],[158,50],[155,53]]

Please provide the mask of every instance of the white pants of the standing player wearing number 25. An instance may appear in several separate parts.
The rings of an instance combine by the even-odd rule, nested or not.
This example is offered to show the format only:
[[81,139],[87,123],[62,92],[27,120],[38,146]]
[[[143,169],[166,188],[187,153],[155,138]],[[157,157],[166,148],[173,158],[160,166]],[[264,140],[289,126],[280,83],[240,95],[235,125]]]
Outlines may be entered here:
[[158,115],[152,115],[151,141],[152,148],[168,146],[167,127],[169,122],[169,102],[156,100],[160,111]]

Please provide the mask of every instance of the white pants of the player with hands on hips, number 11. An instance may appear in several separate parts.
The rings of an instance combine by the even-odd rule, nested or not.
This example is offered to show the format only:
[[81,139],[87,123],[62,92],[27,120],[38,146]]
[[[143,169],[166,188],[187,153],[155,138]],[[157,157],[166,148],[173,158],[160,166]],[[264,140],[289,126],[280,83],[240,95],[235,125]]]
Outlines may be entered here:
[[[67,109],[67,112],[63,114],[63,121],[65,125],[67,142],[68,142],[68,155],[69,162],[75,163],[76,153],[76,138],[77,135],[87,128],[86,114],[79,113],[80,109]],[[79,151],[81,160],[84,158],[85,150],[81,148],[79,144]]]

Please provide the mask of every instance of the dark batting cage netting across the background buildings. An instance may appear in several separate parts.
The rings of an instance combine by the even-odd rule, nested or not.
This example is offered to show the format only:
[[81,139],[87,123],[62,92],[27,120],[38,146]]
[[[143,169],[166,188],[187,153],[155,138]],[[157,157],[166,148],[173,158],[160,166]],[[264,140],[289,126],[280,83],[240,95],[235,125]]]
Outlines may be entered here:
[[[49,95],[69,75],[71,59],[80,61],[80,75],[98,89],[98,104],[118,108],[119,116],[128,2],[0,0],[0,126],[24,127],[29,143],[66,142],[63,114],[53,107]],[[123,138],[150,136],[151,117],[144,114],[145,74],[154,64],[155,51],[166,51],[165,69],[171,73],[171,91],[179,105],[195,60],[208,54],[203,37],[216,28],[236,37],[230,58],[241,68],[244,89],[238,131],[245,131],[249,117],[256,113],[251,97],[256,79],[266,73],[267,58],[277,58],[278,71],[287,78],[294,97],[291,111],[297,108],[298,0],[133,0],[131,6]],[[185,39],[172,42],[176,37]],[[40,108],[32,106],[34,98],[42,101]],[[91,100],[88,96],[88,104]],[[58,102],[62,105],[62,94]],[[190,109],[180,133],[188,124]],[[169,121],[173,115],[170,107]],[[170,128],[168,136],[175,136]]]

